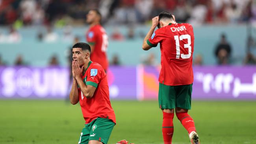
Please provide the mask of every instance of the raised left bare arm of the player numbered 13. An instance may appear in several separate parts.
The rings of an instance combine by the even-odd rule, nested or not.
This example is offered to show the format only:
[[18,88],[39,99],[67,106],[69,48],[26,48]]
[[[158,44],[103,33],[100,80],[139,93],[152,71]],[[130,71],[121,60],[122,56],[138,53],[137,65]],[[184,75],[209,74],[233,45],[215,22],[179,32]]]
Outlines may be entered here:
[[154,17],[152,18],[152,26],[150,28],[150,30],[148,31],[144,41],[143,41],[143,44],[142,44],[142,49],[143,50],[149,50],[150,48],[152,48],[150,45],[148,45],[147,43],[147,40],[152,36],[152,34],[154,33],[154,30],[156,28],[156,26],[158,25],[159,23],[159,17]]

